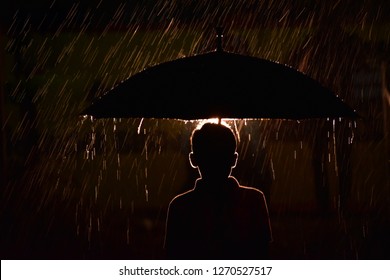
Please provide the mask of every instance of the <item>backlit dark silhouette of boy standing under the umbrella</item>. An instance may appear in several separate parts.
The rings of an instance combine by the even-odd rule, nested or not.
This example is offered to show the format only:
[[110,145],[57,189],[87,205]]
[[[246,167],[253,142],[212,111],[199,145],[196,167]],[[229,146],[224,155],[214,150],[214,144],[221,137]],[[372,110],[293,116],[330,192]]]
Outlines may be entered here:
[[172,199],[165,249],[169,259],[264,259],[272,239],[264,194],[230,176],[238,154],[233,131],[205,123],[191,136],[190,162],[200,174]]

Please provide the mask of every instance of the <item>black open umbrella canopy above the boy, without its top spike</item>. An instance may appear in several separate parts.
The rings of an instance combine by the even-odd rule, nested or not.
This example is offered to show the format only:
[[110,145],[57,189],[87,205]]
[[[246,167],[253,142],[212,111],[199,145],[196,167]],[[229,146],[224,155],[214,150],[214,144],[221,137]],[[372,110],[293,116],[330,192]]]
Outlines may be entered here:
[[277,62],[218,49],[124,80],[82,115],[95,118],[356,118],[331,90]]

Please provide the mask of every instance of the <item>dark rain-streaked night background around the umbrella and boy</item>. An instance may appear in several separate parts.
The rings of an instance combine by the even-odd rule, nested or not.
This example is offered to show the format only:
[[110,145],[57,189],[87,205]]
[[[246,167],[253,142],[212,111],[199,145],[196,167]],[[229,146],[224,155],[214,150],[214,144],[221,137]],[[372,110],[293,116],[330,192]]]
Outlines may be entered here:
[[270,257],[388,259],[389,14],[379,0],[2,1],[1,259],[164,258],[195,123],[78,114],[147,66],[213,50],[219,25],[225,50],[297,68],[363,117],[236,121],[235,174],[268,197]]

